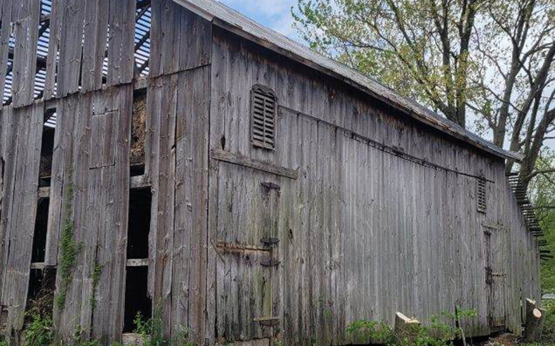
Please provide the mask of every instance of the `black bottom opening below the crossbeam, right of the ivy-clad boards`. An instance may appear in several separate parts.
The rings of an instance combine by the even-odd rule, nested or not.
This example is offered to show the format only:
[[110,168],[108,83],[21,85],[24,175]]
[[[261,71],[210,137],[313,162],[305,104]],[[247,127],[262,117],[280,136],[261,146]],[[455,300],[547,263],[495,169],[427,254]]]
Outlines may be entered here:
[[152,299],[148,296],[148,267],[127,267],[125,277],[125,316],[123,332],[132,333],[133,320],[140,313],[143,321],[152,317]]

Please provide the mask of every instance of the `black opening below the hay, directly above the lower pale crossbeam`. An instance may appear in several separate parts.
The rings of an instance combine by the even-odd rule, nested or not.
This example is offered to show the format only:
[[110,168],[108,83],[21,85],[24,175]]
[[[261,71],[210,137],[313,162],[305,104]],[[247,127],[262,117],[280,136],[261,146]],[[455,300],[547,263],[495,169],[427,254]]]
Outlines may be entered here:
[[150,189],[129,191],[127,259],[148,259],[151,202],[152,194]]

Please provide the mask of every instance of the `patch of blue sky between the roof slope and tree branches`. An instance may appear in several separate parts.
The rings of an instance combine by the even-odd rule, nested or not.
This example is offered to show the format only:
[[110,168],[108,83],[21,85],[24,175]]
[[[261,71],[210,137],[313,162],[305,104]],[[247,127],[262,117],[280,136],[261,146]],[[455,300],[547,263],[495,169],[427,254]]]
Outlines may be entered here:
[[299,40],[295,29],[291,28],[291,6],[297,0],[219,0],[227,6],[272,28],[288,37]]

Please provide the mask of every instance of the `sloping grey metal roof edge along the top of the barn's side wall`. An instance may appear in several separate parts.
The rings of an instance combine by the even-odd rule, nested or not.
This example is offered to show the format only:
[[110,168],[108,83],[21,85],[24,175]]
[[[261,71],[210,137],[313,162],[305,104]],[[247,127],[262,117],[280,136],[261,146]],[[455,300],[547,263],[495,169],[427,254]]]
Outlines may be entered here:
[[190,9],[191,11],[212,20],[214,24],[228,29],[236,34],[241,35],[249,40],[264,45],[264,47],[274,50],[280,54],[297,60],[302,64],[311,66],[328,75],[334,76],[348,84],[354,85],[365,91],[372,97],[386,102],[396,107],[407,115],[418,121],[426,123],[437,130],[448,135],[458,138],[481,148],[487,152],[495,154],[502,158],[511,158],[520,161],[522,155],[516,152],[509,152],[497,147],[495,144],[477,136],[468,130],[465,130],[455,122],[431,111],[427,107],[418,104],[416,101],[397,94],[397,92],[381,85],[379,82],[368,78],[358,71],[349,68],[346,65],[327,58],[324,55],[302,45],[294,40],[287,38],[270,28],[264,27],[254,20],[244,16],[243,14],[225,6],[224,4],[214,0],[173,0],[176,3]]

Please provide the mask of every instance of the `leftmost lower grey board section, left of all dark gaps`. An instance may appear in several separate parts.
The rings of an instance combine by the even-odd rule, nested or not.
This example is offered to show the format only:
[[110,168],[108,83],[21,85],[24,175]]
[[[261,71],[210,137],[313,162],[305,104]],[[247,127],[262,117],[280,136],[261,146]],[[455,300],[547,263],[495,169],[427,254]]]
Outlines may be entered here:
[[7,309],[7,330],[19,330],[27,301],[34,218],[41,159],[43,105],[0,114],[3,163],[0,219],[0,307]]

